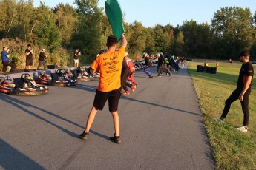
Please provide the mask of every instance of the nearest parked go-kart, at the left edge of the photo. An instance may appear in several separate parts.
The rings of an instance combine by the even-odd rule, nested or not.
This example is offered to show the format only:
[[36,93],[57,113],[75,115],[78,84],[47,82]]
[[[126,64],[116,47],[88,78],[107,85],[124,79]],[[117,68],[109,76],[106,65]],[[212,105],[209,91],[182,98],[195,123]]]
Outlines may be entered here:
[[44,95],[49,91],[47,86],[36,84],[29,74],[20,78],[1,77],[0,92],[10,95]]

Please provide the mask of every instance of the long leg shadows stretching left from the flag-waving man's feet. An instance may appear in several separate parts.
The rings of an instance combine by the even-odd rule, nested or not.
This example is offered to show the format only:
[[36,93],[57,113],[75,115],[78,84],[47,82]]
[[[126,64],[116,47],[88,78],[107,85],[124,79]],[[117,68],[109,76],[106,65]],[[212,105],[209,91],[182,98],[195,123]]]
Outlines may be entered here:
[[[65,122],[68,122],[68,123],[70,123],[70,124],[72,124],[72,125],[74,125],[74,126],[78,126],[79,128],[85,129],[84,126],[81,126],[81,125],[79,125],[79,124],[77,124],[77,123],[75,123],[75,122],[73,122],[73,121],[71,121],[71,120],[68,120],[67,118],[63,118],[62,116],[56,115],[56,114],[53,113],[53,112],[49,112],[49,111],[47,111],[47,110],[45,110],[45,109],[39,108],[39,107],[37,107],[37,106],[33,106],[33,105],[31,105],[30,103],[26,103],[26,102],[24,102],[24,101],[20,101],[20,100],[18,100],[18,99],[16,99],[16,98],[11,98],[11,97],[8,96],[8,95],[2,95],[2,96],[0,97],[0,99],[1,99],[2,101],[5,101],[5,102],[7,102],[7,103],[12,104],[13,106],[16,106],[17,108],[23,110],[24,112],[27,112],[29,115],[32,115],[33,117],[39,118],[40,120],[43,120],[43,121],[45,121],[46,123],[49,123],[50,125],[55,126],[56,128],[62,130],[62,132],[65,132],[65,133],[67,133],[68,135],[70,135],[70,137],[78,138],[79,135],[76,134],[76,133],[70,132],[68,129],[63,128],[62,126],[59,126],[59,125],[56,125],[55,123],[50,122],[50,121],[47,120],[46,118],[42,118],[41,116],[36,115],[35,113],[31,112],[30,110],[25,109],[23,106],[29,106],[29,107],[31,107],[31,108],[38,109],[38,110],[40,110],[40,111],[42,111],[42,112],[45,112],[45,113],[47,113],[48,115],[51,115],[51,116],[53,116],[53,117],[55,117],[55,118],[59,118],[60,120],[64,120]],[[20,105],[23,105],[23,106],[20,106]],[[104,139],[106,139],[106,140],[109,140],[109,137],[106,136],[106,135],[99,134],[98,132],[95,132],[95,131],[93,131],[93,130],[90,130],[90,132],[93,133],[94,135],[97,135],[97,136],[102,137],[102,138],[104,138]]]

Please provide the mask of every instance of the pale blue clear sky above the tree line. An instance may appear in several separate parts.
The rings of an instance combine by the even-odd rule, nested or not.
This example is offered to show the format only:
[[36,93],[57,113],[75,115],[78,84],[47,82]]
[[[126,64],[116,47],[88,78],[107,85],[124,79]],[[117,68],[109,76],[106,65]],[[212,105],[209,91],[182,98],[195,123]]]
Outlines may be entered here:
[[[157,24],[171,24],[176,27],[183,21],[197,21],[198,24],[207,22],[211,24],[214,13],[223,7],[250,8],[251,13],[256,12],[255,0],[118,0],[125,16],[125,22],[130,24],[140,21],[144,27],[154,27]],[[49,7],[56,4],[70,4],[76,7],[72,0],[42,0]],[[39,0],[34,0],[35,7]],[[99,7],[105,6],[105,0],[99,0]]]

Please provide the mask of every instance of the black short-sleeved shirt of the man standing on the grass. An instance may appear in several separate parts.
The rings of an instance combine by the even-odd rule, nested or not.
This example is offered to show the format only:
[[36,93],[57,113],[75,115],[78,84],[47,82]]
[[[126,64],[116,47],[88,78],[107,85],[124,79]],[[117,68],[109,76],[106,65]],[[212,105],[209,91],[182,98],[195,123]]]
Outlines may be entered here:
[[[240,69],[239,77],[238,77],[238,81],[237,81],[237,91],[238,92],[242,92],[243,86],[245,85],[246,77],[252,76],[252,78],[253,78],[253,75],[254,75],[254,70],[253,70],[252,64],[250,64],[249,62],[243,64]],[[246,92],[249,92],[249,94],[250,94],[251,88],[252,88],[252,81],[251,81],[251,84]]]

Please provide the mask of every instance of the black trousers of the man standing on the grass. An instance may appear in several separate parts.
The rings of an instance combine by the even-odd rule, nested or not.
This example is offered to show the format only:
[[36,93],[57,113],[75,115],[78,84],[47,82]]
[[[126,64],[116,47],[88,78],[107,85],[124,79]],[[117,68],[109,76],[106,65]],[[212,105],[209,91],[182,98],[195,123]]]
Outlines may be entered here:
[[[223,109],[223,113],[221,115],[220,118],[226,118],[226,115],[228,115],[229,109],[231,104],[234,101],[237,101],[237,99],[239,98],[240,92],[238,92],[237,90],[234,90],[234,92],[232,92],[232,94],[229,96],[229,98],[226,100],[225,102],[225,107]],[[247,126],[249,124],[249,94],[246,92],[243,95],[243,101],[240,101],[241,106],[242,106],[242,110],[243,110],[243,126]]]

